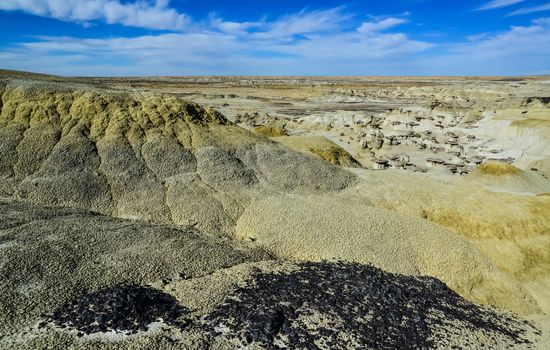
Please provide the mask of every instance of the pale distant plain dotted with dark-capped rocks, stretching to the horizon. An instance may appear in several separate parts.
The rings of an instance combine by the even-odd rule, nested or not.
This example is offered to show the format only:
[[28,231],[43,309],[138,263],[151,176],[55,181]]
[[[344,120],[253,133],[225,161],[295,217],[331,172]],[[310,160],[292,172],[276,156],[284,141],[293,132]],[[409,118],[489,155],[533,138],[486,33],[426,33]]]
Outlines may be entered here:
[[382,166],[465,175],[496,159],[537,179],[550,175],[544,144],[550,92],[543,77],[96,81],[175,94],[250,129],[268,125],[292,136],[324,136],[367,168],[388,161]]

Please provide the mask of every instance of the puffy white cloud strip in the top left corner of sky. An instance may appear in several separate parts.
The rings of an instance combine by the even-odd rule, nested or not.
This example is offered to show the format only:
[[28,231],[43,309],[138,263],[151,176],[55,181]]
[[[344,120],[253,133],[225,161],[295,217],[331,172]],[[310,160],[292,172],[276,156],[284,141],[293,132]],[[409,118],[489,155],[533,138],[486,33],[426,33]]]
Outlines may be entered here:
[[185,14],[169,7],[168,0],[154,3],[139,0],[2,0],[0,10],[22,11],[62,21],[103,21],[108,24],[148,29],[183,29],[189,22]]

